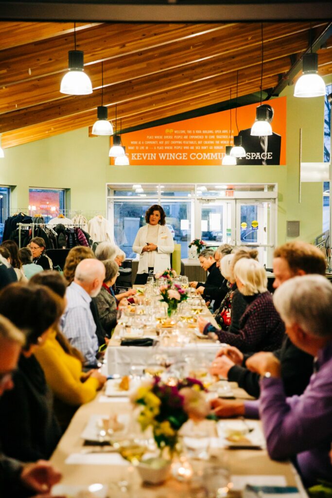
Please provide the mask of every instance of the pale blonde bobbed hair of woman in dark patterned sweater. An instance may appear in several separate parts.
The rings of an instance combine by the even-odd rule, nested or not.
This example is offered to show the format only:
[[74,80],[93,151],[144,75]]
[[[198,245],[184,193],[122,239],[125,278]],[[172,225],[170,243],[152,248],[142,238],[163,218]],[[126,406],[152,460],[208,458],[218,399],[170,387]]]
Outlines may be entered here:
[[244,285],[242,289],[239,289],[244,296],[253,296],[258,292],[262,293],[267,291],[265,268],[255,259],[242,257],[234,264],[233,271],[235,278],[240,280]]

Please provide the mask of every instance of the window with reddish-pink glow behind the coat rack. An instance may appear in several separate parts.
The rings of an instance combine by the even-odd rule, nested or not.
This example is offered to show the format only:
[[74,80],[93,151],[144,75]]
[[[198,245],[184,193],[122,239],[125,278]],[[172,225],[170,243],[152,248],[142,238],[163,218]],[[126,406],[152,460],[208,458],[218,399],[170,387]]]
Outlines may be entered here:
[[29,188],[29,215],[41,214],[45,222],[56,218],[65,210],[63,189]]

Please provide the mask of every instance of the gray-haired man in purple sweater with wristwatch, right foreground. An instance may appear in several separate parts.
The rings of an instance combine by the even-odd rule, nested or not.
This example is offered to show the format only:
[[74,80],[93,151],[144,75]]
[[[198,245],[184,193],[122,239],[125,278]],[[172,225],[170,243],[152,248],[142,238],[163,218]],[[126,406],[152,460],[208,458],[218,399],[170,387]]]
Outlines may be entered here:
[[296,457],[310,486],[332,477],[332,285],[321,275],[295,277],[276,290],[273,301],[292,343],[315,357],[308,387],[301,396],[286,397],[279,361],[272,353],[257,353],[246,365],[262,375],[259,402],[217,399],[212,406],[224,417],[257,417],[259,409],[270,457]]

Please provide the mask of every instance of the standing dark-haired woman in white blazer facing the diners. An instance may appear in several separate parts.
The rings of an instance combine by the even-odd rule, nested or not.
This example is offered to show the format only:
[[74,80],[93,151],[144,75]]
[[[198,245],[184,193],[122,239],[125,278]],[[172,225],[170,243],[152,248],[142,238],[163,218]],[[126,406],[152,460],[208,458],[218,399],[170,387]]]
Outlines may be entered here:
[[139,254],[135,284],[146,283],[149,272],[156,273],[171,267],[170,254],[174,251],[173,237],[166,227],[166,215],[154,204],[145,213],[146,225],[136,235],[132,250]]

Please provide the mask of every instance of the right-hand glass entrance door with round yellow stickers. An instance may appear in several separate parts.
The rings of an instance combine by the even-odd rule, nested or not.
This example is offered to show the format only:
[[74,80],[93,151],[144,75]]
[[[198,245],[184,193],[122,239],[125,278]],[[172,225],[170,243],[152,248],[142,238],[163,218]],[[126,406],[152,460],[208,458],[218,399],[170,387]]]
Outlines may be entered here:
[[236,246],[258,249],[258,259],[272,267],[275,247],[275,203],[268,201],[236,201]]

